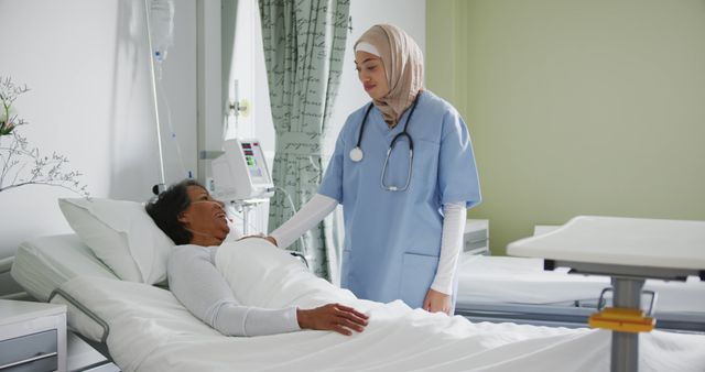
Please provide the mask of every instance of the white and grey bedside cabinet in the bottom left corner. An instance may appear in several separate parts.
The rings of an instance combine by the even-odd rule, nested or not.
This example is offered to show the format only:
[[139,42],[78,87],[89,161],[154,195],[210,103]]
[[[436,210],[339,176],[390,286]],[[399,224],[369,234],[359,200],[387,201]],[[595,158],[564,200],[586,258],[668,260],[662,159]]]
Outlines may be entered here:
[[0,299],[0,372],[66,371],[66,306]]

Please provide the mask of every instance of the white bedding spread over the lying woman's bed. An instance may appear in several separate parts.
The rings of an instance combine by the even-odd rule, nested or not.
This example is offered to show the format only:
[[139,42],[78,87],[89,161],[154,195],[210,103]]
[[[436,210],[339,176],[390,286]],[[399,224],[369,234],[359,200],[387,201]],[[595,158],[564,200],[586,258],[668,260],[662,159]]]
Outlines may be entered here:
[[[260,240],[223,245],[218,267],[248,305],[313,307],[340,302],[370,315],[351,337],[327,331],[224,337],[164,289],[77,277],[63,288],[110,324],[108,347],[123,371],[608,371],[610,333],[473,324],[355,298]],[[69,322],[72,321],[69,315]],[[80,330],[80,325],[73,324]],[[640,371],[705,370],[705,336],[640,337]]]

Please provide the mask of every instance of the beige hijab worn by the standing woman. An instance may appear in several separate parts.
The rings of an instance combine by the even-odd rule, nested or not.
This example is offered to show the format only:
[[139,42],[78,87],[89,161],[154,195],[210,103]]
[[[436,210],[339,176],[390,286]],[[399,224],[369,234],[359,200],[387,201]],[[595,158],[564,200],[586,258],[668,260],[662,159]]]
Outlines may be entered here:
[[389,94],[376,99],[375,105],[393,128],[423,89],[423,54],[411,36],[392,24],[377,24],[367,30],[355,43],[355,51],[360,43],[372,45],[384,64]]

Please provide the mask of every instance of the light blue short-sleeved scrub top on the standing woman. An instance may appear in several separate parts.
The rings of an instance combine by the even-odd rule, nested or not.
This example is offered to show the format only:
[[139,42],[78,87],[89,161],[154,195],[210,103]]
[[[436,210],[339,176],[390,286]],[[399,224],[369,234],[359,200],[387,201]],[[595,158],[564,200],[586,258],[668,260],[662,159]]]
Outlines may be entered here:
[[[369,105],[369,103],[368,103]],[[421,307],[438,267],[443,205],[480,201],[475,156],[467,125],[457,110],[424,90],[406,132],[414,144],[412,177],[404,192],[382,188],[387,150],[406,124],[406,110],[389,129],[377,107],[370,110],[355,163],[349,153],[358,140],[367,105],[343,127],[318,193],[343,204],[345,243],[340,285],[359,298],[403,299]],[[403,186],[409,146],[399,140],[387,166],[387,185]]]

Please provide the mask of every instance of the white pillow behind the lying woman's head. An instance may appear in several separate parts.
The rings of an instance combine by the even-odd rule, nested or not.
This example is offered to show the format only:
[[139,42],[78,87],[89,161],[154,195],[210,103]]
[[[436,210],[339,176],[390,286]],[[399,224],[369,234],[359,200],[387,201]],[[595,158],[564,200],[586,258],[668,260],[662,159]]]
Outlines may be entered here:
[[72,229],[123,281],[155,284],[166,278],[174,243],[140,203],[100,198],[61,198]]

